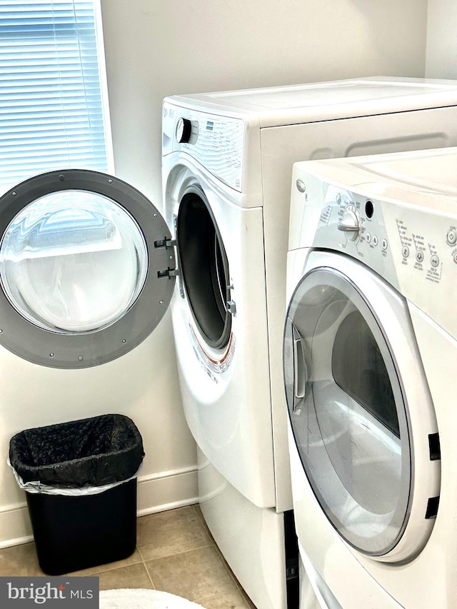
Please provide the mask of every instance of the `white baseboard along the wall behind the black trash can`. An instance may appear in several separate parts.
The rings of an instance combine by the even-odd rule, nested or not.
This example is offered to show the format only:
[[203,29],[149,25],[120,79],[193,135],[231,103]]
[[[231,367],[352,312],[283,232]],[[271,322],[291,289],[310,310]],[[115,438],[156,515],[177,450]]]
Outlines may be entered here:
[[[195,467],[138,478],[137,514],[144,516],[199,503]],[[26,502],[0,508],[0,548],[33,541]]]

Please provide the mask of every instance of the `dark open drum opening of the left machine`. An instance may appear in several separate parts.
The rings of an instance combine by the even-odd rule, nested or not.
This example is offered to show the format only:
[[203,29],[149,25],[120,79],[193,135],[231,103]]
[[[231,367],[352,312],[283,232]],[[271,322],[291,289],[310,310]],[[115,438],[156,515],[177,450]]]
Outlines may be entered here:
[[229,261],[209,203],[197,185],[189,186],[181,198],[176,241],[196,326],[209,346],[224,349],[231,333]]

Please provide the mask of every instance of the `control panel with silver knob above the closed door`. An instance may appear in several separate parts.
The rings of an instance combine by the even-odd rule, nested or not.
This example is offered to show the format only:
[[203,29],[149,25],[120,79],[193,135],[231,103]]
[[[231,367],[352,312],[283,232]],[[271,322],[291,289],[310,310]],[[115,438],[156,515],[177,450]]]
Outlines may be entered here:
[[[457,338],[457,317],[452,313],[457,204],[451,195],[432,193],[428,204],[419,199],[413,204],[406,190],[401,197],[397,188],[394,198],[381,182],[348,188],[306,173],[294,177],[300,181],[298,188],[295,180],[292,194],[295,246],[300,243],[357,258]],[[293,216],[300,225],[299,237],[298,229],[292,231]]]

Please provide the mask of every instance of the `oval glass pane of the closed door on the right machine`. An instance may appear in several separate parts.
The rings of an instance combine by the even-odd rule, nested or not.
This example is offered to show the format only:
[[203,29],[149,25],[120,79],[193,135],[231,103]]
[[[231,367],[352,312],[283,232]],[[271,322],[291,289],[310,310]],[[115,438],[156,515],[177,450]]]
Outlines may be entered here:
[[383,329],[338,271],[311,271],[298,285],[284,367],[293,435],[316,498],[348,543],[387,553],[411,495],[406,406]]

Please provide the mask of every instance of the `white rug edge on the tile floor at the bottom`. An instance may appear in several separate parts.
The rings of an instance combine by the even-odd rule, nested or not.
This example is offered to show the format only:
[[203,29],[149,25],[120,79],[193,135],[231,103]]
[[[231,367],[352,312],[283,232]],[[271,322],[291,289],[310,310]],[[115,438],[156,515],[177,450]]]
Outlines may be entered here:
[[186,598],[160,590],[100,590],[100,609],[204,609]]

